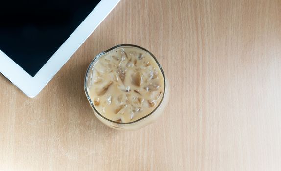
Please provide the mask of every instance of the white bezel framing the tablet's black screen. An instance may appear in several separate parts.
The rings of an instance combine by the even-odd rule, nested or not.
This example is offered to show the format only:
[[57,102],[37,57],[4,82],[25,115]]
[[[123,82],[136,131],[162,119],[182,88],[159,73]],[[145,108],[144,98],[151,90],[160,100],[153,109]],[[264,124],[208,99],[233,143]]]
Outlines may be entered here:
[[34,77],[31,77],[21,66],[16,64],[1,50],[0,72],[28,97],[35,97],[119,1],[120,0],[101,0]]

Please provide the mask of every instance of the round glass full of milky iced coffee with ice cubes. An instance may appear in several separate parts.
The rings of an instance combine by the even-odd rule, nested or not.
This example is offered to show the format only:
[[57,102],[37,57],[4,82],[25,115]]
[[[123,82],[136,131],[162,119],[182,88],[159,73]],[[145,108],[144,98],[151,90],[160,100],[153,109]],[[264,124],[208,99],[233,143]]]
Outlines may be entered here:
[[84,89],[95,116],[115,129],[139,129],[164,110],[169,86],[157,59],[146,49],[117,45],[89,65]]

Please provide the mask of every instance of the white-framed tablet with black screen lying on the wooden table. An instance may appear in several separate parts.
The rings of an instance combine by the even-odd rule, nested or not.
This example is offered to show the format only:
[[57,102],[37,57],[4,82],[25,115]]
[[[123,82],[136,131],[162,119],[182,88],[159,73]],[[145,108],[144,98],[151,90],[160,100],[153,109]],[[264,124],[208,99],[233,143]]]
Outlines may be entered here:
[[0,72],[35,97],[119,1],[1,1]]

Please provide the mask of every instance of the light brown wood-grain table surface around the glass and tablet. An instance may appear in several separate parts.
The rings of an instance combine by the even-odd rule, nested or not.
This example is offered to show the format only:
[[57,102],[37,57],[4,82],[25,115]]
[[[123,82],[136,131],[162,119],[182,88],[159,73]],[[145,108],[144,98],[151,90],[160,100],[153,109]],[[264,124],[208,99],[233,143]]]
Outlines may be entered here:
[[[137,131],[94,116],[83,91],[98,53],[150,50],[170,81]],[[281,1],[121,0],[35,98],[0,76],[0,170],[281,170]]]

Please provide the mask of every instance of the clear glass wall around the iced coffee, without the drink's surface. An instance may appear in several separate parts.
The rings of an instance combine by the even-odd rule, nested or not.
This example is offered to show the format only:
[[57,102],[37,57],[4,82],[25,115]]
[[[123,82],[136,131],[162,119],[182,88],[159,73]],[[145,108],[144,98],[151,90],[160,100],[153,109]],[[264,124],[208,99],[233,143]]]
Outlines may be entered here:
[[[119,122],[112,121],[112,120],[104,117],[102,114],[100,114],[97,111],[97,109],[94,107],[94,100],[91,99],[91,97],[89,96],[88,90],[92,86],[91,85],[91,72],[92,72],[91,68],[93,68],[94,64],[104,55],[106,55],[108,53],[111,53],[112,51],[116,51],[117,49],[124,48],[124,47],[131,47],[131,48],[144,50],[154,58],[154,60],[156,61],[156,63],[158,64],[158,66],[161,70],[161,73],[163,74],[164,92],[163,92],[163,96],[162,96],[162,99],[161,99],[159,105],[151,113],[148,113],[146,116],[144,116],[144,117],[142,117],[142,118],[140,118],[136,121],[133,121],[133,122],[119,123]],[[89,103],[90,103],[90,105],[91,105],[91,107],[94,111],[95,116],[105,125],[109,126],[110,128],[117,129],[117,130],[135,130],[135,129],[142,128],[142,127],[154,122],[164,112],[164,108],[166,107],[166,105],[168,103],[168,99],[169,99],[168,81],[165,78],[164,71],[163,71],[161,65],[158,63],[155,56],[152,53],[150,53],[148,50],[146,50],[146,49],[144,49],[140,46],[131,45],[131,44],[117,45],[115,47],[112,47],[112,48],[98,54],[96,57],[94,57],[94,60],[90,63],[90,65],[89,65],[89,67],[86,71],[86,76],[85,76],[85,81],[84,81],[84,90],[85,90],[87,99],[88,99],[88,101],[89,101]]]

